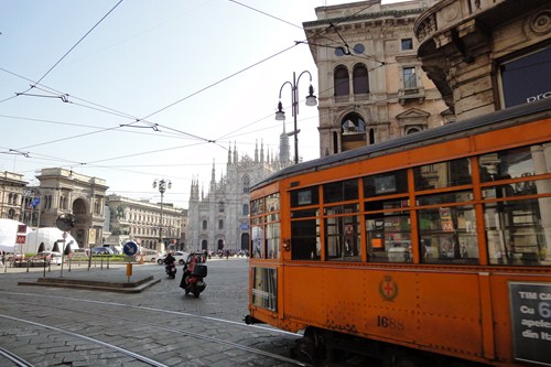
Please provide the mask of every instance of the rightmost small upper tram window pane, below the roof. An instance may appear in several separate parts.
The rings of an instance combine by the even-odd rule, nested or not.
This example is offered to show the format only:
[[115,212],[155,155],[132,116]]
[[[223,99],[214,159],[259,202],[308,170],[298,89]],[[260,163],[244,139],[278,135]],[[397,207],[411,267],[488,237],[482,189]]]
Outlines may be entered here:
[[[480,181],[518,179],[536,174],[533,158],[543,155],[541,145],[508,149],[500,152],[480,155]],[[543,159],[544,160],[544,159]],[[538,173],[548,173],[544,164]]]

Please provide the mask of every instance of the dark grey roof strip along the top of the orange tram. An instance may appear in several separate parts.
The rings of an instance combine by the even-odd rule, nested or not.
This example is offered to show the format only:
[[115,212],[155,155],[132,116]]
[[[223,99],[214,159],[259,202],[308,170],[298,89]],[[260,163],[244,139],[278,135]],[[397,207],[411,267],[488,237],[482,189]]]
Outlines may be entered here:
[[266,184],[287,176],[293,176],[296,173],[315,172],[328,169],[334,165],[354,162],[358,159],[378,156],[385,153],[411,149],[412,147],[429,145],[435,142],[455,139],[457,137],[474,136],[480,133],[482,131],[488,131],[494,128],[498,129],[503,126],[511,126],[548,118],[550,117],[550,115],[551,98],[514,106],[495,112],[476,116],[458,122],[452,122],[442,127],[432,128],[388,141],[378,142],[371,145],[365,145],[346,152],[314,159],[299,164],[293,164],[269,175],[258,184],[255,184],[252,188],[261,187]]

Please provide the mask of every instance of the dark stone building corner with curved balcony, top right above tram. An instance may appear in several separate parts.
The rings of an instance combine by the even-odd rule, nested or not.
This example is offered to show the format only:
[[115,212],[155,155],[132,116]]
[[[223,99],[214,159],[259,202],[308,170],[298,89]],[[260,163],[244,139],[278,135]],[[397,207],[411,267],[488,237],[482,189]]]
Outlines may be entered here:
[[414,33],[422,67],[457,120],[551,97],[547,0],[442,0]]

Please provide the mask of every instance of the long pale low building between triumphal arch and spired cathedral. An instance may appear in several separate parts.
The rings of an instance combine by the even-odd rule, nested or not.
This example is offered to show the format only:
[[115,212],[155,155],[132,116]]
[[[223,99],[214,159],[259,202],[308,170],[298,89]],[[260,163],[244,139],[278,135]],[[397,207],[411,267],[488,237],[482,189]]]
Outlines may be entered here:
[[160,204],[120,195],[106,196],[106,244],[121,246],[129,240],[143,248],[164,251],[184,249],[185,212],[171,203]]

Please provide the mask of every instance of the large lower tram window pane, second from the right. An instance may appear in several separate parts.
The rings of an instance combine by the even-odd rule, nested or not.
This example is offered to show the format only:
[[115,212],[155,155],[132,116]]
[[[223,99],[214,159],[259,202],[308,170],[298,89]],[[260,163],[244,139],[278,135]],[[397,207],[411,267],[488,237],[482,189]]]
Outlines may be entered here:
[[420,209],[418,218],[421,262],[478,263],[473,206]]

